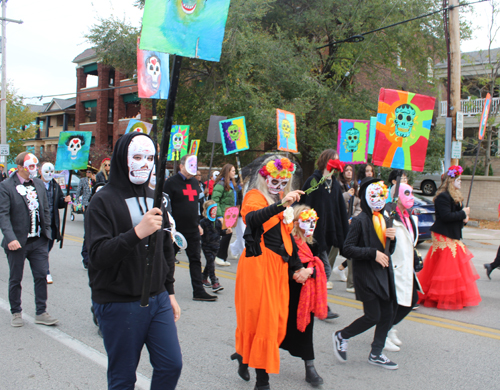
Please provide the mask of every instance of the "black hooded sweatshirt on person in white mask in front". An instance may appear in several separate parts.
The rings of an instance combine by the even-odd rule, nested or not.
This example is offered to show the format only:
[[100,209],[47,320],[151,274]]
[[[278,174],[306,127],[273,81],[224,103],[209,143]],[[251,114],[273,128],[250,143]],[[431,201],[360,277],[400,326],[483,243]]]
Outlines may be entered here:
[[[129,180],[127,154],[133,137],[128,133],[115,145],[109,182],[92,198],[85,216],[85,241],[89,252],[89,279],[92,300],[135,302],[141,299],[149,237],[139,239],[134,227],[153,207],[153,190]],[[144,199],[147,198],[147,204]],[[165,228],[170,224],[163,210],[163,228],[156,234],[150,296],[165,290],[174,293],[174,250]]]

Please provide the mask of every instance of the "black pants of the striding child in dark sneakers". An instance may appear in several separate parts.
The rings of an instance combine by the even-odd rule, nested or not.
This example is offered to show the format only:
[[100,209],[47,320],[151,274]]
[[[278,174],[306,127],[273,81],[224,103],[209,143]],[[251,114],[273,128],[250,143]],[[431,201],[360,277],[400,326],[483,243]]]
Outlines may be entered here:
[[384,301],[380,298],[375,298],[371,301],[363,302],[363,310],[365,315],[342,329],[340,334],[342,338],[350,339],[376,326],[371,353],[378,356],[382,353],[387,332],[392,325],[394,303],[392,301]]

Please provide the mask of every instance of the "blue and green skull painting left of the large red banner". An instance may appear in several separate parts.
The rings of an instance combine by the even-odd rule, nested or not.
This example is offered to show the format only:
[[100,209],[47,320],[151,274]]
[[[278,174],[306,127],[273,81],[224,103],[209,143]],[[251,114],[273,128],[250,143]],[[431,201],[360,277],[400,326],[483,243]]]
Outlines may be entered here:
[[337,153],[339,160],[364,164],[368,158],[370,121],[339,119]]

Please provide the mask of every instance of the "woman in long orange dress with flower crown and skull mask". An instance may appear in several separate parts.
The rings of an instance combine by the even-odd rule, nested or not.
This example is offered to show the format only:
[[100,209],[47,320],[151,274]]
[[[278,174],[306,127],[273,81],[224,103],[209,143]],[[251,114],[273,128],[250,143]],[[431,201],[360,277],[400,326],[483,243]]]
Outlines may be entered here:
[[250,380],[249,366],[256,369],[257,390],[270,389],[269,374],[279,373],[279,346],[288,320],[288,269],[296,271],[298,283],[311,275],[293,250],[293,209],[287,207],[303,194],[290,191],[295,169],[287,158],[264,160],[241,208],[246,248],[236,272],[236,353],[231,359],[238,360],[244,380]]

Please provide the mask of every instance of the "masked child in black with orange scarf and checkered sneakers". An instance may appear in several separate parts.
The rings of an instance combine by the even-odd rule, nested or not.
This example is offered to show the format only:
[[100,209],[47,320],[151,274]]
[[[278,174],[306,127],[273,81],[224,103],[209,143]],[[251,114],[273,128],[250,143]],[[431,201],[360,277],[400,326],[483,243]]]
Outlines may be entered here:
[[395,370],[398,365],[382,353],[396,306],[392,262],[384,253],[386,238],[390,238],[389,253],[394,252],[396,229],[386,228],[386,219],[381,214],[387,187],[378,179],[365,178],[359,197],[363,211],[351,222],[344,253],[352,259],[356,299],[363,302],[365,314],[332,335],[333,351],[337,359],[345,363],[349,339],[376,326],[368,362]]

